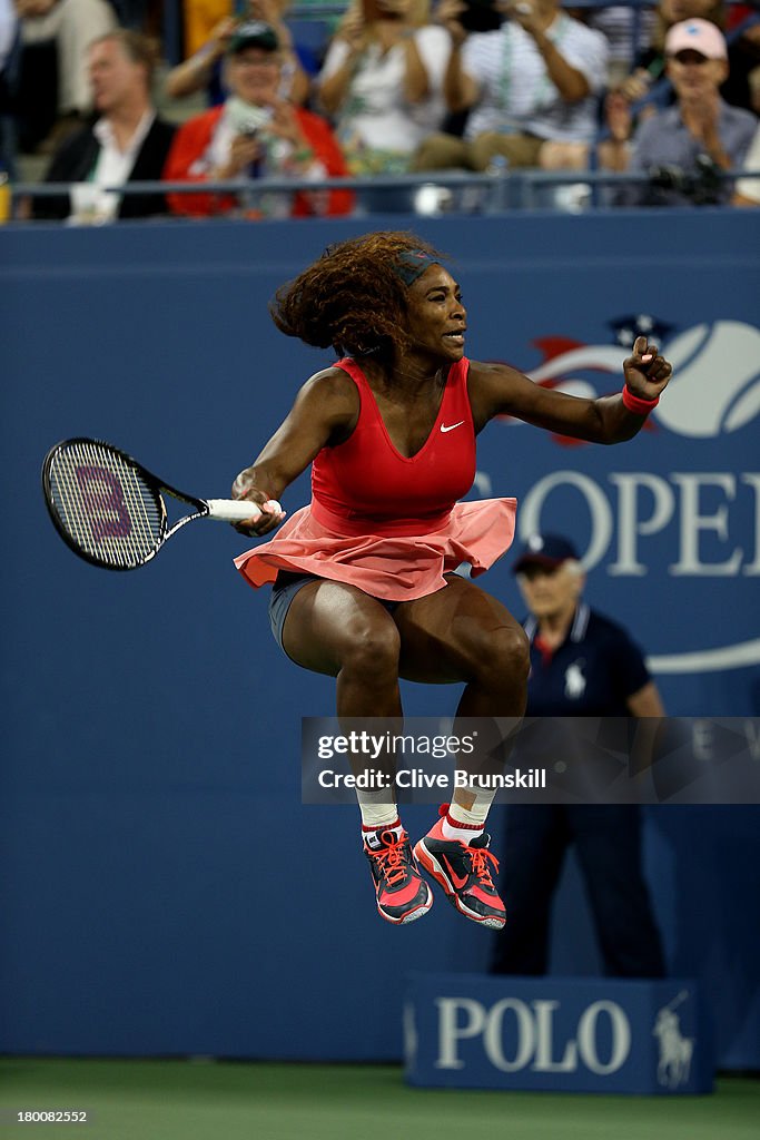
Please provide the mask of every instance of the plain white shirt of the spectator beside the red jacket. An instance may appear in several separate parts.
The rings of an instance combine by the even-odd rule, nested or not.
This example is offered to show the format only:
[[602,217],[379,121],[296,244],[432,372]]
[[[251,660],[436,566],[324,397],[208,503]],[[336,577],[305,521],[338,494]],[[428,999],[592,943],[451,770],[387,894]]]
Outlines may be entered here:
[[[408,103],[403,95],[407,52],[394,43],[385,54],[370,43],[359,59],[343,106],[337,112],[336,132],[342,142],[351,136],[363,146],[411,154],[431,131],[439,130],[446,115],[442,84],[451,41],[443,27],[426,24],[414,33],[415,44],[427,72],[430,96]],[[318,84],[345,63],[349,44],[330,43]]]

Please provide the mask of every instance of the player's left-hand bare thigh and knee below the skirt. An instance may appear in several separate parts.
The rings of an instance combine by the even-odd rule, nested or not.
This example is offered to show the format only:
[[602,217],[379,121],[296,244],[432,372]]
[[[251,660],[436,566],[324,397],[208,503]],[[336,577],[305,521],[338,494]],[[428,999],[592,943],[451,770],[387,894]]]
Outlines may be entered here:
[[374,597],[356,586],[324,578],[295,594],[283,626],[287,656],[312,673],[335,677],[362,637],[386,637],[393,618]]

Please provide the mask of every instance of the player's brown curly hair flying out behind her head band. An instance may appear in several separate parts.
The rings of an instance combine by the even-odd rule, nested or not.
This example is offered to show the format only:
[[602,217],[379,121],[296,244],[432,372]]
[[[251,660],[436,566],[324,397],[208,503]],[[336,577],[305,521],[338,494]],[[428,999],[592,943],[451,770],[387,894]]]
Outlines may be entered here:
[[338,355],[391,361],[409,344],[403,254],[422,251],[433,261],[442,254],[415,234],[382,230],[329,245],[269,304],[286,336]]

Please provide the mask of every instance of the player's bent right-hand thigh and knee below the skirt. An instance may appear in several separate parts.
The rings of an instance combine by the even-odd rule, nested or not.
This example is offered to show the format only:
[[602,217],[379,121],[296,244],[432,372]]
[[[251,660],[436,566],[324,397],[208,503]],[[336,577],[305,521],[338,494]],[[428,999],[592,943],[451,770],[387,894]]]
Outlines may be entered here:
[[402,602],[394,613],[401,635],[400,675],[447,684],[472,679],[473,661],[506,629],[524,636],[507,608],[458,575],[427,597]]

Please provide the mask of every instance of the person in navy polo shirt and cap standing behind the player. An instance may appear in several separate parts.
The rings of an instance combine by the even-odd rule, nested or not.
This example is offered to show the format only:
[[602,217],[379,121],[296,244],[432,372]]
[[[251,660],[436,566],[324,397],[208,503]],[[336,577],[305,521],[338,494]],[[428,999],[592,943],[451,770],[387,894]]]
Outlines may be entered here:
[[[582,598],[585,575],[572,543],[533,536],[514,565],[530,610],[528,717],[661,717],[662,702],[640,650],[621,626]],[[512,804],[504,888],[507,925],[493,974],[546,974],[551,898],[574,845],[591,905],[604,972],[664,975],[660,935],[641,871],[636,805]]]

